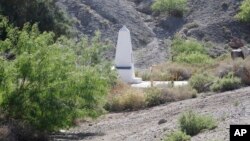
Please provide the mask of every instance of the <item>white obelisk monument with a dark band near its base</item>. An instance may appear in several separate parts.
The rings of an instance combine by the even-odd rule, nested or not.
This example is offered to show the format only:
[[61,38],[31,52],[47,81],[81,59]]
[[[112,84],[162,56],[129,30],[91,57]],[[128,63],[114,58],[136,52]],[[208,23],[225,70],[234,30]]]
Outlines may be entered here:
[[131,84],[142,82],[141,78],[135,77],[131,36],[126,26],[123,26],[118,34],[115,67],[124,82]]

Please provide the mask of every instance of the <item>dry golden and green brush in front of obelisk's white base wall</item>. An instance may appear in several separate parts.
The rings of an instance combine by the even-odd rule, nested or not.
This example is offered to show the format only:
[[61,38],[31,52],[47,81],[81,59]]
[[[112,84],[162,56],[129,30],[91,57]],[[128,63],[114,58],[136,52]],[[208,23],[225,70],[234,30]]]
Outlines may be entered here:
[[194,98],[196,94],[197,92],[190,86],[163,86],[140,90],[118,83],[109,95],[105,108],[109,111],[139,110],[166,102]]

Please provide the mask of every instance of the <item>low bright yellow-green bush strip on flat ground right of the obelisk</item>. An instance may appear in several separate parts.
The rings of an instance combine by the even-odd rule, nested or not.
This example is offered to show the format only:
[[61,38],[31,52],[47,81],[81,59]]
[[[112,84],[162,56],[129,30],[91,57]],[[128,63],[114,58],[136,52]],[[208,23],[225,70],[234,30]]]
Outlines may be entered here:
[[212,64],[213,60],[206,54],[192,53],[192,54],[180,54],[176,57],[176,62],[187,63],[192,65],[208,65]]

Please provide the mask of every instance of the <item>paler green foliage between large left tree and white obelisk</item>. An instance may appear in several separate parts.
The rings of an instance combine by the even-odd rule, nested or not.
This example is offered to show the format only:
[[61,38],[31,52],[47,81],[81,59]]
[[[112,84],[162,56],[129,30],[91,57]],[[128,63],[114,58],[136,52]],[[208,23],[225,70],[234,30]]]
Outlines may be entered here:
[[110,51],[111,46],[109,43],[102,43],[100,32],[96,32],[91,40],[84,36],[79,42],[62,36],[58,38],[57,43],[74,50],[78,65],[95,67],[96,71],[105,76],[108,84],[111,86],[116,84],[117,73],[110,69],[111,62],[105,58],[105,53]]

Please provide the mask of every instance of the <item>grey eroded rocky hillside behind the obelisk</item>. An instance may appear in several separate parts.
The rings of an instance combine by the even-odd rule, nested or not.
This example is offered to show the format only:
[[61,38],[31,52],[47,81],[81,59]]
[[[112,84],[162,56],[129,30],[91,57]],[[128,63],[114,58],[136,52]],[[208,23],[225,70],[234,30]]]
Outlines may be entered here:
[[[136,66],[148,67],[164,61],[170,40],[176,33],[211,42],[212,54],[224,51],[232,36],[250,42],[250,26],[234,15],[242,0],[188,0],[183,18],[153,13],[154,0],[58,0],[77,19],[80,33],[92,36],[96,30],[116,43],[117,32],[126,25],[132,33]],[[155,57],[157,56],[157,57]]]

